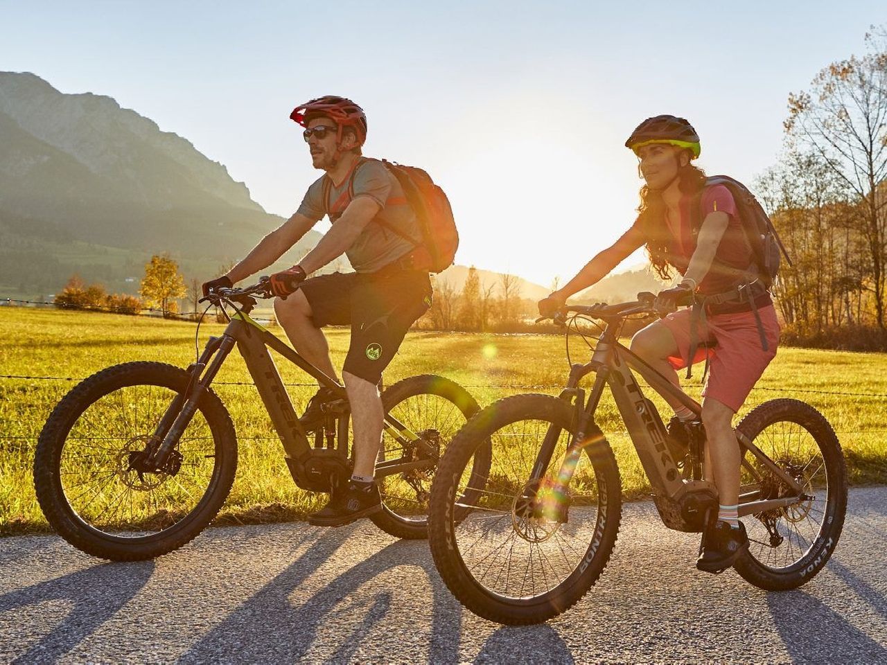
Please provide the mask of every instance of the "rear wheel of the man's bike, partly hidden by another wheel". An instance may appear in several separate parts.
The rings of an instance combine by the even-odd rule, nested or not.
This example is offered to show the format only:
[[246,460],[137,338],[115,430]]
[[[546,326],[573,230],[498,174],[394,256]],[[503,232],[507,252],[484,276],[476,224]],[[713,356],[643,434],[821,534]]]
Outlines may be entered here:
[[[386,413],[409,427],[413,434],[431,443],[428,458],[417,442],[403,442],[385,432],[379,461],[427,458],[427,468],[381,477],[382,512],[370,519],[397,538],[428,537],[428,497],[437,462],[452,438],[468,419],[480,411],[475,398],[455,381],[433,374],[422,374],[398,381],[382,393]],[[489,446],[482,447],[472,462],[475,473],[490,468]]]

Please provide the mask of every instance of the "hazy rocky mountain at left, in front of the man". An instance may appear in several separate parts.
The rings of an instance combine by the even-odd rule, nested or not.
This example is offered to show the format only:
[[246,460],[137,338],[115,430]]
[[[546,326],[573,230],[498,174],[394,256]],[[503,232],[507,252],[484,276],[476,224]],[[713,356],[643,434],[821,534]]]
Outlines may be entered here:
[[211,276],[282,221],[222,164],[113,98],[0,72],[0,285],[55,289],[79,270],[126,290],[116,283],[137,283],[164,251]]

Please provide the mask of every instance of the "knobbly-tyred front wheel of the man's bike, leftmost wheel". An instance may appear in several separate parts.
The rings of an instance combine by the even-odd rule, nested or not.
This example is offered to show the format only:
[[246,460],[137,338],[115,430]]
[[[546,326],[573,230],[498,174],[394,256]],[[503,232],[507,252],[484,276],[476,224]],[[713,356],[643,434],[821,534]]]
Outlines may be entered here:
[[237,441],[208,390],[162,471],[139,468],[155,427],[190,376],[161,363],[93,374],[52,411],[37,444],[34,483],[59,536],[103,559],[152,559],[192,540],[231,490]]

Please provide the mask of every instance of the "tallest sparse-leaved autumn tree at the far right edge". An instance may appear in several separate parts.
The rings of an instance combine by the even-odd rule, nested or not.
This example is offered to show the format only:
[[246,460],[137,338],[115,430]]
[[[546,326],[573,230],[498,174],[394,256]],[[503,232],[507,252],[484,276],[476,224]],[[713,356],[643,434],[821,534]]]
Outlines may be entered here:
[[814,153],[859,202],[857,229],[865,241],[875,320],[884,325],[887,275],[887,38],[866,35],[869,52],[832,63],[811,89],[789,95],[785,129],[801,150]]

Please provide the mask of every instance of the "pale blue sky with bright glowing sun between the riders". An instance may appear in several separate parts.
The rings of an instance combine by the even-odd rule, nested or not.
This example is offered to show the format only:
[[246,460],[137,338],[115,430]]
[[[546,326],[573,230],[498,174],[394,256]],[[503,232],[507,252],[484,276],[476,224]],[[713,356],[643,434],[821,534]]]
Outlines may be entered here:
[[0,70],[113,97],[283,216],[320,175],[289,113],[352,98],[368,116],[366,155],[425,168],[447,192],[457,262],[548,286],[631,225],[640,180],[624,141],[640,121],[686,117],[698,165],[752,184],[778,158],[789,92],[865,52],[887,8],[0,0],[0,16]]

